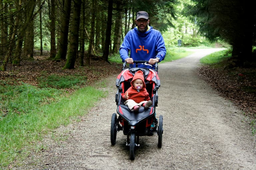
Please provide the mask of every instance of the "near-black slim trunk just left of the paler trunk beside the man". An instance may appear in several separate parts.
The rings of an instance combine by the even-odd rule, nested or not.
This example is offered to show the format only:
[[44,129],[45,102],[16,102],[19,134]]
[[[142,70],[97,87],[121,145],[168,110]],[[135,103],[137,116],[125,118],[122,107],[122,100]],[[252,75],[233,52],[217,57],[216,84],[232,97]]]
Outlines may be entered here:
[[106,40],[105,46],[103,50],[103,59],[108,62],[108,54],[109,54],[109,45],[110,45],[110,37],[111,37],[111,26],[112,26],[112,9],[113,9],[113,0],[108,1],[108,22],[107,22],[107,31],[106,31]]

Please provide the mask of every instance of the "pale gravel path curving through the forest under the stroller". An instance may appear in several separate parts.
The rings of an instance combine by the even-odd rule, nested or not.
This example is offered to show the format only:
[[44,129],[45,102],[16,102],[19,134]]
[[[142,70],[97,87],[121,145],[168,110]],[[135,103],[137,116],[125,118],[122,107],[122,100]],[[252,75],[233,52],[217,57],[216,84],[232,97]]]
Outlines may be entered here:
[[[256,139],[246,117],[198,77],[199,59],[216,50],[200,50],[159,64],[161,87],[157,117],[163,115],[163,145],[158,137],[140,137],[135,160],[129,160],[126,136],[117,133],[111,146],[111,115],[116,112],[115,80],[108,78],[109,96],[81,122],[60,127],[43,141],[48,148],[31,154],[15,170],[254,170]],[[68,138],[56,141],[57,138]],[[39,145],[40,145],[39,144]]]

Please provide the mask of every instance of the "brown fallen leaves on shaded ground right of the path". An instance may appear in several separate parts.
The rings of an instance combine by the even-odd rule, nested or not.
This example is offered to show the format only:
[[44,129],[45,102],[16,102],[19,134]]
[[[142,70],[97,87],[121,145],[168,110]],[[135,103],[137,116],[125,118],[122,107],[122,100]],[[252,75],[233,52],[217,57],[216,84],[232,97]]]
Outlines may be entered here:
[[256,118],[255,68],[203,66],[198,72],[221,96],[231,100],[244,114]]

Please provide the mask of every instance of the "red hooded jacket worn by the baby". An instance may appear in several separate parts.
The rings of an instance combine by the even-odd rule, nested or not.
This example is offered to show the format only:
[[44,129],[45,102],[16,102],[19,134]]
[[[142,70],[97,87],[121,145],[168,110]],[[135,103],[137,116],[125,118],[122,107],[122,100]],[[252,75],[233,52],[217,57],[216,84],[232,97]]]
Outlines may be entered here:
[[[133,86],[133,81],[136,79],[141,79],[143,82],[143,87],[140,89],[140,91],[138,92],[137,89]],[[133,99],[136,103],[139,103],[141,101],[148,101],[150,100],[149,97],[149,93],[146,89],[146,84],[144,82],[144,76],[143,76],[143,72],[141,70],[137,71],[131,81],[131,87],[129,87],[127,89],[128,91],[128,95],[129,95],[129,99]],[[122,94],[122,97],[124,100],[127,100],[125,98],[125,93]]]

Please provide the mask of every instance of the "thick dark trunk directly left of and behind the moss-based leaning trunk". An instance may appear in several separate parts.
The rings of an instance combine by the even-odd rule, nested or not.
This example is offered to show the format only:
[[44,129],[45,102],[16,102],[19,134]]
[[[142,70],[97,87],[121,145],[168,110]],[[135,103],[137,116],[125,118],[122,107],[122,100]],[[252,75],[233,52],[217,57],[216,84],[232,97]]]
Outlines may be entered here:
[[65,60],[67,55],[68,47],[68,30],[69,30],[69,20],[71,11],[71,0],[64,0],[64,11],[62,16],[62,23],[60,29],[60,39],[59,39],[59,50],[55,57],[55,60]]

